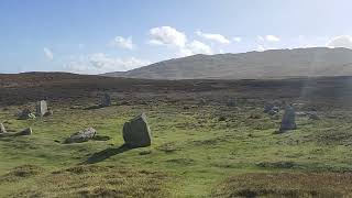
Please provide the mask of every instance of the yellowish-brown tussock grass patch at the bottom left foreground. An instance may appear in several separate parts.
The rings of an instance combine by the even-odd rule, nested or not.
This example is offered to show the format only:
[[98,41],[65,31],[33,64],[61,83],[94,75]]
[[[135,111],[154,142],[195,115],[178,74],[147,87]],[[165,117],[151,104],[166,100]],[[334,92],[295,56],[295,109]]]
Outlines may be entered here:
[[167,176],[116,166],[74,166],[33,179],[7,197],[167,197]]

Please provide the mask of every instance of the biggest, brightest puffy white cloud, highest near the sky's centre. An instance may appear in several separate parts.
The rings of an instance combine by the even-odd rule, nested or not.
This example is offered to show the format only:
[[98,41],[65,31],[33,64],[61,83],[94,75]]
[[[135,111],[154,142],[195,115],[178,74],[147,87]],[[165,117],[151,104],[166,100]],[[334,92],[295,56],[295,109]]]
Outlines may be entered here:
[[160,26],[150,30],[148,43],[184,47],[187,43],[187,36],[172,26]]

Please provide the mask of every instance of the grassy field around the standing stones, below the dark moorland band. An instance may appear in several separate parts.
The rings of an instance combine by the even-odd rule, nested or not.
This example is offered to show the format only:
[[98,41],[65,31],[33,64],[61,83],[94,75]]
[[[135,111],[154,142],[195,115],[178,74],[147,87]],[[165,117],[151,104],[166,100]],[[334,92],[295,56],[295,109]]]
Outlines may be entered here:
[[[54,114],[35,120],[14,116],[34,107],[31,101],[3,105],[0,121],[8,131],[31,127],[33,134],[0,138],[0,197],[352,196],[349,108],[317,101],[320,120],[298,117],[297,130],[275,134],[283,112],[263,113],[265,100],[257,95],[237,107],[208,99],[208,91],[206,105],[197,97],[157,97],[129,103],[118,94],[113,106],[100,109],[89,109],[99,100],[96,94],[89,100],[48,100]],[[152,146],[121,148],[123,123],[141,112]],[[110,139],[63,143],[88,127]]]

